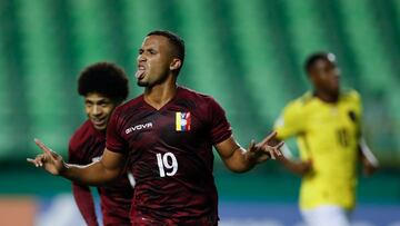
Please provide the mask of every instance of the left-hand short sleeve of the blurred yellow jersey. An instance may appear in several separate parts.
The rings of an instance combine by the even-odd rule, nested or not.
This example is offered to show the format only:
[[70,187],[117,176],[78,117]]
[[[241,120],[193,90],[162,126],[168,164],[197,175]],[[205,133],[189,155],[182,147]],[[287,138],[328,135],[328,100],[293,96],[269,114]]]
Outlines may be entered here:
[[278,132],[277,137],[287,139],[303,131],[306,119],[302,115],[301,104],[298,101],[290,102],[273,126],[273,129]]

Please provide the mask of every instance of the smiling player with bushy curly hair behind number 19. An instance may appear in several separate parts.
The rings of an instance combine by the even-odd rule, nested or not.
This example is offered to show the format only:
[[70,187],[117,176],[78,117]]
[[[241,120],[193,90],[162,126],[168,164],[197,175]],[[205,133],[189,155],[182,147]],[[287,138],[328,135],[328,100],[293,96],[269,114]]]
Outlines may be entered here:
[[[106,147],[106,129],[112,111],[128,96],[124,71],[110,62],[86,68],[78,80],[78,92],[84,98],[88,120],[73,134],[69,145],[69,163],[88,165],[99,161]],[[72,183],[76,203],[89,226],[99,225],[90,187]],[[98,187],[103,225],[130,225],[129,213],[133,188],[123,174],[112,185]]]

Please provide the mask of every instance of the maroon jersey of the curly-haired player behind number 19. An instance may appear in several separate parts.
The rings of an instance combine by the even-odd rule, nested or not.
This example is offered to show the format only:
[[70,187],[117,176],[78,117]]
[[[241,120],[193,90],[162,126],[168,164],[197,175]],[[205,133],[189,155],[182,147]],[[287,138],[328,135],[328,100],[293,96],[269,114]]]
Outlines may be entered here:
[[[97,130],[87,120],[72,136],[69,146],[69,163],[88,165],[100,160],[106,147],[106,134]],[[72,184],[77,205],[88,225],[96,225],[92,196],[88,186]],[[128,175],[103,187],[98,187],[104,225],[130,225],[130,206],[133,188]]]

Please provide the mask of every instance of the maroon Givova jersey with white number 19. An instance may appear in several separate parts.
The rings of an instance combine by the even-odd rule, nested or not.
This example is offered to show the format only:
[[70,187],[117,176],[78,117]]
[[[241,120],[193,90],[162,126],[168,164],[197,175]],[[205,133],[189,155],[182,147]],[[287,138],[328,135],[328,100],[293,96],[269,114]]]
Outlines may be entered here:
[[216,224],[212,146],[230,136],[230,125],[216,100],[181,87],[159,110],[143,96],[117,108],[107,130],[107,149],[131,159],[137,181],[132,220],[140,225]]

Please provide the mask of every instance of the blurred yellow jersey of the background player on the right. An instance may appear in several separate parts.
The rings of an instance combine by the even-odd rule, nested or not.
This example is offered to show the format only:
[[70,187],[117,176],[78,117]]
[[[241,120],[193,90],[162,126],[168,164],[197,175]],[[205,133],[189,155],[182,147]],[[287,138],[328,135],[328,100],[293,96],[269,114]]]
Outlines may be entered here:
[[283,109],[274,125],[278,138],[296,136],[300,158],[312,161],[302,177],[300,208],[354,207],[361,111],[353,90],[342,92],[336,104],[307,92]]

